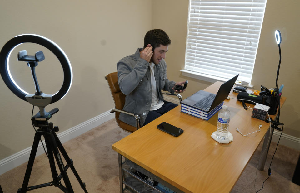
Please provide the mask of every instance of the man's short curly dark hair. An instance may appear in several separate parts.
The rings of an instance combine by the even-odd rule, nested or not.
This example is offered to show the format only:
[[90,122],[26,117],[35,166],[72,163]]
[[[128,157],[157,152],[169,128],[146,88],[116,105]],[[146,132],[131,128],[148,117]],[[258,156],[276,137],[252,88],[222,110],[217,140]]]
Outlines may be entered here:
[[146,33],[144,38],[144,48],[147,47],[148,44],[151,44],[153,50],[160,45],[168,46],[171,44],[171,40],[166,32],[161,29],[150,30]]

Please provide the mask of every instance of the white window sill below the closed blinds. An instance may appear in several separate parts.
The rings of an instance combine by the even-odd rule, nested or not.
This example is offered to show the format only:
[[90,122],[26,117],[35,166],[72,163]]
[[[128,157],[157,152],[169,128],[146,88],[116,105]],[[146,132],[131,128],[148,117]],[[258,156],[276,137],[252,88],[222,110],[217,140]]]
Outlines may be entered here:
[[[190,78],[195,78],[195,79],[198,79],[198,80],[204,80],[204,81],[207,81],[207,82],[211,82],[211,83],[215,83],[216,81],[221,81],[221,82],[226,82],[227,79],[225,78],[220,78],[220,77],[215,77],[215,76],[212,76],[212,75],[205,75],[205,74],[201,74],[201,73],[197,73],[197,72],[192,72],[192,71],[189,71],[189,70],[180,70],[182,75],[183,76],[187,76],[187,77],[190,77]],[[248,85],[242,85],[241,84],[241,81],[236,81],[235,82],[235,85],[237,86],[247,86],[249,89],[253,89],[253,85],[252,84],[248,84]]]

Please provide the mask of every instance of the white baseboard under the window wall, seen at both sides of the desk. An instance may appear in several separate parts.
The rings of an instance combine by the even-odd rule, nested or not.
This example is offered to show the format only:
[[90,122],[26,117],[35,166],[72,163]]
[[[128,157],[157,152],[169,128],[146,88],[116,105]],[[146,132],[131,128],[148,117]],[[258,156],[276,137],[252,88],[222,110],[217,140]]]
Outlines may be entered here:
[[[178,99],[173,98],[173,97],[171,97],[171,96],[165,95],[163,98],[164,98],[165,100],[167,100],[167,101],[172,102],[172,103],[179,104]],[[272,142],[276,142],[276,143],[278,142],[280,133],[281,133],[281,132],[279,132],[279,131],[277,131],[277,130],[274,130],[274,133],[273,133],[273,136],[272,136]],[[300,138],[296,138],[296,137],[294,137],[294,136],[287,135],[287,134],[285,134],[285,133],[282,133],[281,138],[280,138],[280,141],[279,141],[279,144],[280,144],[280,145],[287,146],[287,147],[289,147],[289,148],[293,148],[293,149],[296,149],[296,150],[300,150]]]

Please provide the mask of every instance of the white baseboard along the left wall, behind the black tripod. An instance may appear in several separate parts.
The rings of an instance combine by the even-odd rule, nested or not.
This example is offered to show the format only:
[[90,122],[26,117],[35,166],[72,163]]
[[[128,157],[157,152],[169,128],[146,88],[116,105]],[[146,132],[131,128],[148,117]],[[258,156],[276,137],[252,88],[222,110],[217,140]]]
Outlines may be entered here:
[[[110,111],[107,111],[105,113],[102,113],[98,115],[97,117],[94,117],[88,121],[85,121],[73,128],[70,128],[62,133],[59,133],[57,136],[60,140],[60,142],[64,143],[67,142],[70,139],[73,139],[99,125],[102,123],[112,119],[115,117],[114,113],[110,113]],[[45,141],[43,141],[45,144]],[[28,162],[30,152],[32,147],[27,147],[26,149],[17,152],[9,157],[6,157],[2,160],[0,160],[0,175],[25,163]],[[42,147],[42,143],[40,142],[37,148],[37,155],[39,156],[42,153],[44,153],[44,149]]]

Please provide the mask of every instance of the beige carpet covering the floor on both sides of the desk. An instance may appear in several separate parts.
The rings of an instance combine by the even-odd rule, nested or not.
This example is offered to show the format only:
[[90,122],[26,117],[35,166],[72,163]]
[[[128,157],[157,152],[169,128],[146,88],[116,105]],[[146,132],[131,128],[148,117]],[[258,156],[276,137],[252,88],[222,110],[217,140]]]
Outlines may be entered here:
[[[113,151],[112,144],[127,136],[114,119],[74,138],[63,144],[69,157],[73,159],[75,169],[88,192],[119,192],[118,154]],[[267,178],[267,169],[275,151],[272,143],[264,171],[257,172],[256,189],[262,187],[262,181]],[[254,188],[257,161],[261,147],[258,147],[249,164],[237,181],[232,192],[256,192]],[[272,162],[272,175],[259,192],[300,192],[300,186],[291,182],[297,163],[299,151],[278,146]],[[66,162],[64,162],[66,163]],[[17,192],[22,187],[27,163],[22,164],[0,176],[0,184],[4,193]],[[71,169],[68,169],[74,192],[83,192]],[[52,181],[49,162],[45,154],[35,159],[29,186]],[[217,185],[216,185],[217,186]],[[58,187],[43,187],[29,192],[62,192]]]

